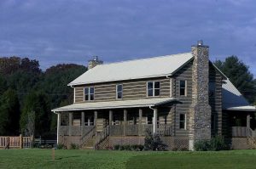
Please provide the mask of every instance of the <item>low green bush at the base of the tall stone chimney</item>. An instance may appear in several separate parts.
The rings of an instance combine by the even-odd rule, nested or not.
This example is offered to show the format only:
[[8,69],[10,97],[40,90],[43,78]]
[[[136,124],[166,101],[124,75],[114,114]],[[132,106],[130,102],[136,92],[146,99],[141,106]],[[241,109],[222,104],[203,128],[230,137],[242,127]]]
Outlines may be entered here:
[[195,142],[196,151],[218,151],[226,150],[229,146],[224,143],[222,136],[216,136],[210,140],[200,140]]

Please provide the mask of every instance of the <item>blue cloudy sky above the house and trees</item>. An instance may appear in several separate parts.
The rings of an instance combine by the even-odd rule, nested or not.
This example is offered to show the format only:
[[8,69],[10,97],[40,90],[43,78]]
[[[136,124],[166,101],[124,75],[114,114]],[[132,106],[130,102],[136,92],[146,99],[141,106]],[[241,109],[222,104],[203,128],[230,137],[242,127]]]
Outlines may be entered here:
[[0,56],[38,59],[41,69],[189,52],[236,55],[256,76],[255,0],[0,0]]

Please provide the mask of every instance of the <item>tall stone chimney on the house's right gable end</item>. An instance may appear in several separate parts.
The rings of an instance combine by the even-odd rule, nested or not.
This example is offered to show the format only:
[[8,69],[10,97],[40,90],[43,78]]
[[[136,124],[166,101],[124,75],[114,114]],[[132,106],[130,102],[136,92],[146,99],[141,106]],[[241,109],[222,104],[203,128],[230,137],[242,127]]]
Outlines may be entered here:
[[197,140],[211,138],[211,106],[209,105],[209,47],[202,41],[191,47],[192,104],[189,110],[189,149]]

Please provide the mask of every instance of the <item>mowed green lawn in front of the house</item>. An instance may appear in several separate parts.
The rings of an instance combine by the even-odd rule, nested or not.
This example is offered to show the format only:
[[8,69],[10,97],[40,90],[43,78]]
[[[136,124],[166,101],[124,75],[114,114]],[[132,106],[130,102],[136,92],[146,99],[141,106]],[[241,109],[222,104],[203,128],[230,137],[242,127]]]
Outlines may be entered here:
[[1,149],[0,168],[256,168],[256,150],[133,152]]

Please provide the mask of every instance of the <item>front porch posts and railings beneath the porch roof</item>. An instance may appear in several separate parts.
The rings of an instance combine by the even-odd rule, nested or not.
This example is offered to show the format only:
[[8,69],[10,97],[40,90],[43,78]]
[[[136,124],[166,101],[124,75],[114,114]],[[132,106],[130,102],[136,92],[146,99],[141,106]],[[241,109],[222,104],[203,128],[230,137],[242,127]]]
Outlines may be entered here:
[[[58,136],[98,135],[108,127],[109,136],[144,136],[146,129],[161,136],[172,136],[170,108],[167,110],[117,109],[84,110],[58,114]],[[154,125],[155,124],[155,125]]]

